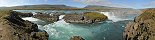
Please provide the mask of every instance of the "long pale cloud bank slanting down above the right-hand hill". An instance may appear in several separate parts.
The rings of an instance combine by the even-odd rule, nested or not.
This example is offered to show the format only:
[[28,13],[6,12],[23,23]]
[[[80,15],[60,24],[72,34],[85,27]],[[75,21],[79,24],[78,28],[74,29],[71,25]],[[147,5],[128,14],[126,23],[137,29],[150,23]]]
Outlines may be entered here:
[[73,0],[75,2],[80,2],[86,5],[102,5],[102,6],[111,6],[111,7],[129,7],[123,4],[112,3],[109,0]]

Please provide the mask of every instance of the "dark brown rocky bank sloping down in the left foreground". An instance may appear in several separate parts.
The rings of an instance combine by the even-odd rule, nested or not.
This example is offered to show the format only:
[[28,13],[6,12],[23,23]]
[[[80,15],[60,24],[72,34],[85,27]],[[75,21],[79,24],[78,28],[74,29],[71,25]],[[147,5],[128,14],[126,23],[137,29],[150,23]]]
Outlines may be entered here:
[[48,40],[45,31],[38,26],[21,19],[16,12],[0,10],[0,40]]

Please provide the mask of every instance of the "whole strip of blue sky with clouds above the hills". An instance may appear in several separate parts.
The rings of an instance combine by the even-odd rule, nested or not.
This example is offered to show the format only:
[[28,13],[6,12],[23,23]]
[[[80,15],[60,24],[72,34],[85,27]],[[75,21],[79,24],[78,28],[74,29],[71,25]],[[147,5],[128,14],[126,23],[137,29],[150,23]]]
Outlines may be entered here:
[[87,5],[135,9],[155,8],[155,0],[0,0],[0,7],[36,4],[67,5],[80,8]]

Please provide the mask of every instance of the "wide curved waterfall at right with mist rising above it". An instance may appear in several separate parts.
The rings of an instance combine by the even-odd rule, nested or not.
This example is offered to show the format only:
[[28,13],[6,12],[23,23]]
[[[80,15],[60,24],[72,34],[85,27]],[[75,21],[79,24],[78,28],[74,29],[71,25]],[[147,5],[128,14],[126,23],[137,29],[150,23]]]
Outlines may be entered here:
[[124,20],[134,20],[134,18],[141,14],[140,10],[110,10],[108,12],[100,12],[108,17],[109,20],[113,22],[124,21]]

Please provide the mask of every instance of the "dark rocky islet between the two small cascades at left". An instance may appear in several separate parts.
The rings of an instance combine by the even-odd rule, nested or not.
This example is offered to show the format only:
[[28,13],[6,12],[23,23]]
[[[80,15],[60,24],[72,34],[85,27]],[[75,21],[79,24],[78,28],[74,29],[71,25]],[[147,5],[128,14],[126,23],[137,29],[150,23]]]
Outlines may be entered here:
[[48,21],[48,22],[56,22],[59,20],[58,15],[55,16],[55,15],[49,15],[49,14],[43,14],[43,13],[37,13],[33,17],[44,20],[44,21]]

